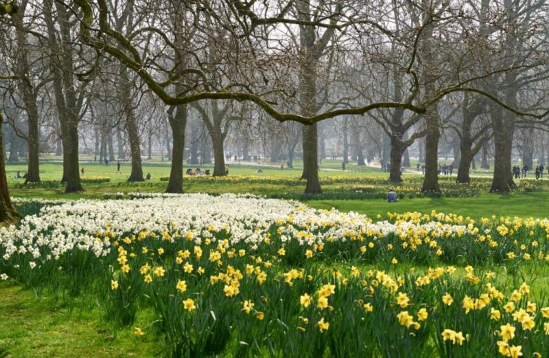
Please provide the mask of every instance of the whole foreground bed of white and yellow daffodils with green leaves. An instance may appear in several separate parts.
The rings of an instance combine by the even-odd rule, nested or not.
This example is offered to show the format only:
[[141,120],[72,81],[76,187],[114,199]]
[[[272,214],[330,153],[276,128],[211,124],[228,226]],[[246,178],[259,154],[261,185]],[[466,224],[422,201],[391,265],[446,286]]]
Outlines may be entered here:
[[[0,277],[95,295],[114,326],[178,357],[532,357],[549,351],[549,304],[490,267],[549,265],[548,236],[546,219],[147,194],[57,201],[1,229]],[[435,268],[390,273],[403,262]]]

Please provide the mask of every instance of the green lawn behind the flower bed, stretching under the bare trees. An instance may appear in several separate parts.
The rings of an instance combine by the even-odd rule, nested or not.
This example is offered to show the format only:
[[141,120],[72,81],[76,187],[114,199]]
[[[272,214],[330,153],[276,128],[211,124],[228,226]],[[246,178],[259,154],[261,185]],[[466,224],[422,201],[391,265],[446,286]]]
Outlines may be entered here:
[[[299,167],[300,164],[301,163],[296,162],[297,167]],[[336,168],[336,164],[338,164],[336,161],[327,159],[323,162],[323,166],[321,166],[320,182],[325,192],[338,192],[340,190],[352,191],[353,188],[361,188],[366,185],[363,182],[364,177],[379,178],[377,186],[381,187],[380,190],[388,190],[388,188],[392,186],[385,181],[387,173],[382,172],[379,168],[356,166],[353,168],[353,165],[349,164],[349,166],[347,166],[349,170],[343,172]],[[273,165],[276,166],[276,164]],[[331,166],[332,168],[323,170],[324,166]],[[77,194],[65,194],[65,188],[61,185],[54,188],[14,188],[17,184],[21,184],[24,181],[24,179],[15,178],[17,170],[21,170],[21,172],[25,171],[25,164],[14,164],[8,165],[6,168],[10,194],[14,197],[40,197],[44,199],[102,199],[106,192],[164,192],[167,181],[161,181],[160,178],[167,177],[170,173],[170,163],[168,162],[143,161],[143,173],[146,175],[146,173],[150,172],[152,180],[143,183],[126,183],[126,180],[130,175],[130,164],[128,163],[122,164],[120,174],[116,172],[115,163],[104,166],[91,161],[82,163],[81,167],[84,167],[84,178],[108,177],[110,178],[110,182],[84,184],[84,189],[86,191]],[[185,168],[187,167],[193,168],[192,166],[185,166]],[[213,167],[211,166],[202,166],[201,168],[203,170],[209,168],[213,171]],[[185,192],[207,192],[211,194],[250,192],[266,196],[279,195],[280,197],[285,197],[290,195],[296,198],[299,198],[305,190],[305,182],[299,181],[299,177],[301,176],[301,169],[299,168],[284,168],[284,170],[280,170],[277,167],[272,168],[266,164],[261,166],[264,172],[256,173],[257,168],[259,168],[258,165],[231,164],[229,177],[237,179],[242,176],[254,176],[259,178],[287,180],[282,183],[277,183],[276,181],[269,183],[249,183],[248,181],[235,180],[235,182],[229,183],[229,185],[218,185],[218,183],[200,183],[191,180],[185,181],[184,179],[183,187]],[[353,171],[353,169],[358,169],[360,171]],[[58,180],[61,175],[62,166],[60,163],[46,163],[40,165],[40,177],[45,181]],[[326,182],[334,177],[349,178],[351,181],[344,184],[323,183],[323,181]],[[408,181],[411,180],[413,180],[413,183],[408,183]],[[544,179],[543,182],[546,183],[547,179]],[[288,183],[291,185],[288,186]],[[404,185],[419,188],[419,186],[421,186],[421,177],[414,174],[414,172],[405,173]],[[549,189],[549,186],[546,188]],[[405,196],[397,203],[387,203],[384,199],[307,199],[311,199],[307,200],[307,205],[314,208],[330,209],[333,207],[344,212],[352,210],[372,217],[375,217],[378,214],[384,217],[387,212],[431,212],[432,210],[436,210],[437,212],[452,212],[474,218],[492,215],[544,218],[548,216],[546,203],[549,202],[549,190],[512,194],[488,194],[487,192],[481,192],[478,197],[466,198],[414,197],[410,199],[410,197]]]

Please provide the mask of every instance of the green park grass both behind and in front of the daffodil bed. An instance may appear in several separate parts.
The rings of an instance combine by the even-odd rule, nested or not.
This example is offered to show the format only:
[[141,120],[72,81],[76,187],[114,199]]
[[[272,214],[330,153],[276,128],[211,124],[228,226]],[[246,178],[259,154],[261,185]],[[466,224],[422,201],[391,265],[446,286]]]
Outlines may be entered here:
[[[121,174],[116,173],[115,163],[103,166],[86,162],[82,166],[85,170],[84,177],[108,177],[110,181],[88,184],[84,186],[85,192],[68,195],[63,194],[62,186],[25,188],[21,186],[23,179],[15,178],[16,171],[24,172],[25,166],[14,164],[7,167],[10,193],[13,197],[43,199],[104,199],[104,194],[107,192],[160,193],[163,192],[167,183],[160,178],[167,176],[170,170],[167,163],[145,161],[143,172],[145,174],[150,172],[152,180],[145,183],[126,183],[130,171],[126,163],[121,168]],[[299,166],[299,163],[296,166]],[[251,192],[267,197],[301,198],[305,186],[299,181],[299,175],[301,175],[299,168],[280,170],[277,167],[270,168],[265,165],[262,166],[264,172],[258,174],[255,172],[258,167],[248,164],[231,164],[229,179],[219,182],[185,179],[185,192],[211,194]],[[206,168],[213,169],[202,167],[203,170]],[[356,168],[350,165],[347,169],[346,172],[342,172],[340,163],[337,161],[325,161],[320,170],[320,178],[321,183],[323,182],[323,190],[327,194],[318,199],[303,198],[304,203],[318,209],[336,208],[341,212],[359,212],[374,220],[386,219],[387,213],[430,214],[433,210],[464,217],[470,216],[475,221],[480,221],[482,217],[492,219],[493,216],[496,219],[500,216],[511,218],[517,216],[521,219],[548,216],[546,203],[549,201],[549,181],[547,179],[533,183],[533,186],[526,186],[530,189],[521,192],[488,194],[485,189],[486,180],[482,179],[487,173],[480,173],[478,176],[480,184],[472,191],[464,190],[465,197],[453,197],[453,195],[461,195],[460,192],[463,189],[456,188],[449,180],[441,184],[447,190],[445,196],[418,197],[415,193],[421,186],[421,177],[412,170],[404,174],[405,181],[400,190],[397,188],[397,192],[406,194],[402,194],[397,203],[387,203],[382,198],[384,192],[392,185],[386,182],[386,173],[379,168],[371,167]],[[57,180],[61,173],[62,167],[59,163],[40,166],[40,175],[45,181]],[[528,184],[530,180],[523,182]],[[366,196],[362,199],[355,199],[357,192],[362,193],[366,190],[372,190],[373,194],[364,194]],[[338,195],[342,199],[338,199]],[[368,195],[371,196],[368,197]],[[546,239],[540,237],[539,240],[545,243]],[[327,261],[326,265],[343,269],[347,262]],[[389,272],[403,274],[414,270],[427,270],[429,267],[410,264],[410,262],[384,265]],[[378,266],[360,262],[359,267],[366,271]],[[284,267],[279,269],[283,270]],[[487,269],[485,267],[482,270]],[[517,280],[532,281],[533,297],[541,301],[545,300],[544,287],[548,284],[549,277],[547,267],[532,263],[519,269],[507,264],[491,266],[489,269],[493,269],[498,275],[495,282],[507,289],[510,289]],[[465,273],[461,272],[460,277],[463,279]],[[154,320],[153,317],[148,309],[139,311],[133,326],[148,326],[151,320]],[[166,354],[167,343],[163,342],[161,338],[163,336],[154,333],[154,330],[152,333],[138,337],[134,335],[133,326],[113,327],[93,295],[82,295],[73,302],[71,298],[60,298],[47,290],[23,289],[17,282],[0,281],[0,322],[0,357],[2,354],[7,354],[8,357],[153,357]],[[237,350],[237,346],[229,347],[229,353],[223,353],[221,357],[233,357]],[[266,351],[264,356],[268,356]]]

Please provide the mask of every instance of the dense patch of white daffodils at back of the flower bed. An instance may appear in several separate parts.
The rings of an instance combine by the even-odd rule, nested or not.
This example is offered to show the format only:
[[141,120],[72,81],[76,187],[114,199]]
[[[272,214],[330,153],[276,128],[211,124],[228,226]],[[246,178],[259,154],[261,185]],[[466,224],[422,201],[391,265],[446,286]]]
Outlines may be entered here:
[[[118,193],[117,193],[118,194]],[[133,194],[132,194],[133,197]],[[452,237],[476,234],[465,226],[432,221],[373,222],[362,214],[315,210],[297,201],[265,199],[250,194],[143,194],[143,199],[49,201],[40,214],[27,216],[19,227],[0,229],[3,259],[14,254],[32,256],[35,262],[58,259],[77,248],[106,256],[110,238],[143,232],[159,239],[215,240],[224,232],[229,242],[259,247],[271,229],[279,240],[297,240],[300,245],[345,241],[355,234],[373,238],[389,234]],[[21,202],[22,200],[16,200]],[[46,203],[46,204],[48,204]],[[108,233],[108,234],[106,234]]]

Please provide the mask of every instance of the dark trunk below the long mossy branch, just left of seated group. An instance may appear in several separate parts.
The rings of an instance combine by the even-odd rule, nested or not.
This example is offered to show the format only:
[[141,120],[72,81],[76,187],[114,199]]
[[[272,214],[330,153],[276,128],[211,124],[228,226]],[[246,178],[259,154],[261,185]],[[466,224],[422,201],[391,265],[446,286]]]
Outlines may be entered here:
[[172,169],[166,192],[183,193],[183,156],[185,155],[185,126],[187,126],[187,106],[176,107],[176,114],[168,115],[174,145],[172,146]]

